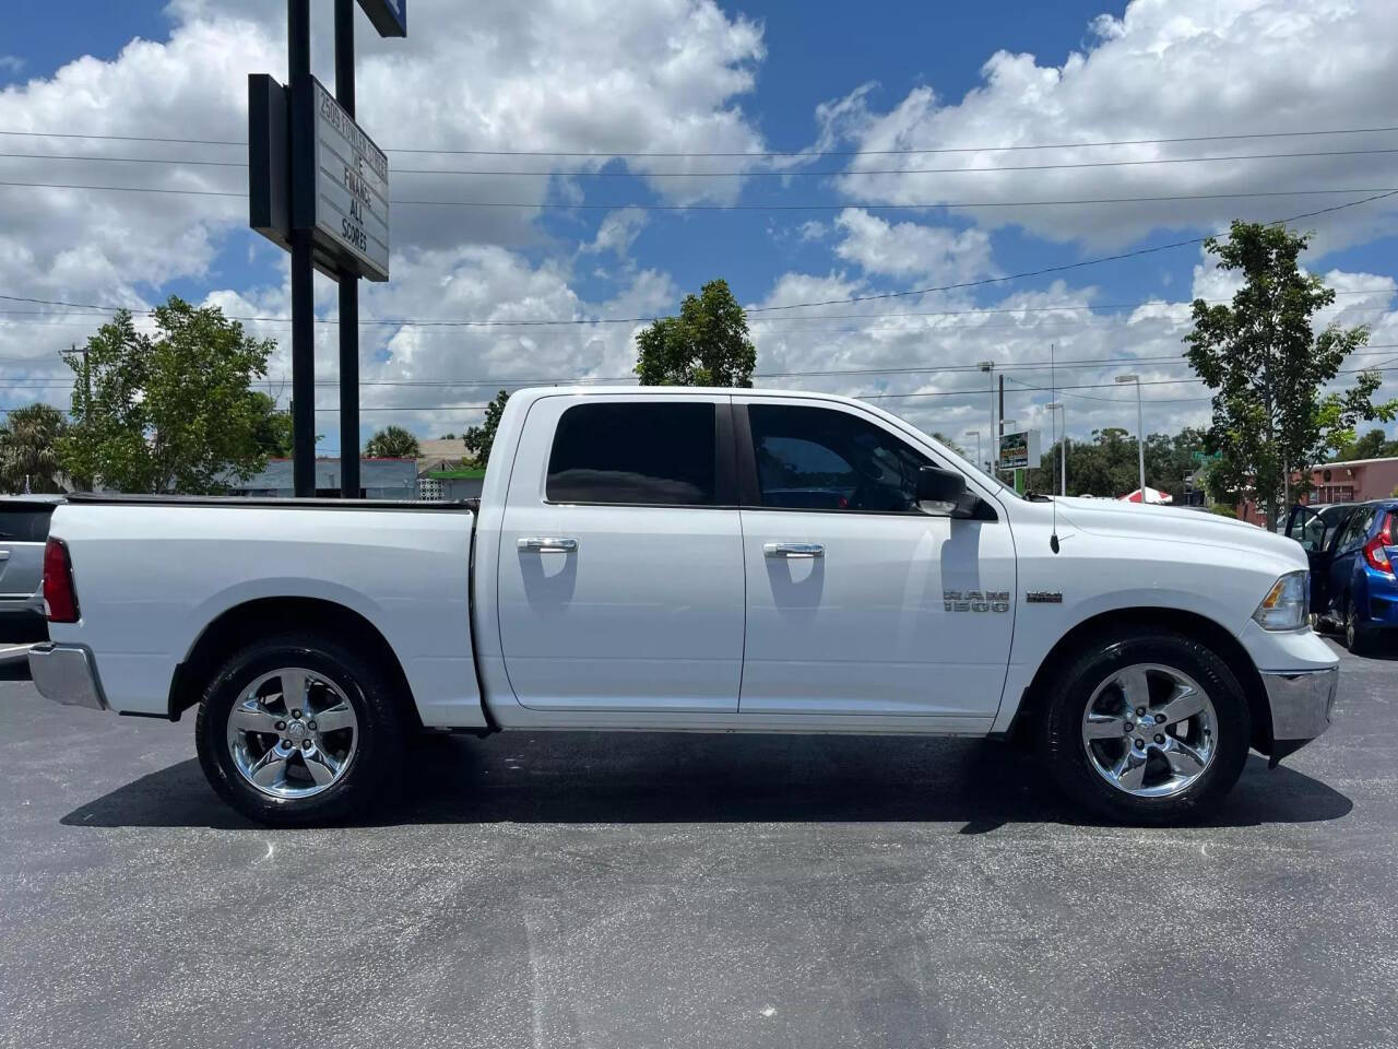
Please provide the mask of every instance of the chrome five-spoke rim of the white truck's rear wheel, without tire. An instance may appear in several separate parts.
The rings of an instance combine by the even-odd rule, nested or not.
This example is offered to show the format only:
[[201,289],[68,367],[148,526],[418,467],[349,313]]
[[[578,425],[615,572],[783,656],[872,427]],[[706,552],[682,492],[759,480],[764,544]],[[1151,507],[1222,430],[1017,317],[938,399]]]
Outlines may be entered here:
[[359,719],[340,687],[303,667],[254,680],[228,712],[228,751],[239,775],[275,799],[319,794],[345,775]]

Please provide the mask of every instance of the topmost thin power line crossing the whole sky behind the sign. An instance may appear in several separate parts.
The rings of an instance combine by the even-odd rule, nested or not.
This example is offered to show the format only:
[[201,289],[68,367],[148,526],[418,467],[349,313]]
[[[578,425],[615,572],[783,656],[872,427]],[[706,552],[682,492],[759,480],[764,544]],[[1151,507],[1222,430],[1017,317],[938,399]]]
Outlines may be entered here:
[[[953,152],[1015,152],[1025,150],[1086,150],[1109,145],[1165,145],[1173,143],[1212,143],[1212,141],[1243,141],[1254,138],[1299,138],[1327,134],[1381,134],[1398,131],[1398,126],[1388,127],[1334,127],[1334,129],[1302,129],[1293,131],[1239,131],[1233,134],[1190,134],[1169,138],[1107,138],[1072,143],[1025,143],[1012,145],[928,145],[902,147],[895,150],[786,150],[786,151],[568,151],[568,150],[452,150],[440,147],[384,147],[386,152],[414,152],[440,154],[454,157],[752,157],[752,158],[795,158],[808,157],[895,157],[917,154],[953,154]],[[182,145],[247,145],[238,138],[178,138],[164,136],[137,134],[84,134],[77,131],[29,131],[29,130],[0,130],[0,136],[15,136],[28,138],[87,138],[94,141],[123,141],[123,143],[169,143]]]

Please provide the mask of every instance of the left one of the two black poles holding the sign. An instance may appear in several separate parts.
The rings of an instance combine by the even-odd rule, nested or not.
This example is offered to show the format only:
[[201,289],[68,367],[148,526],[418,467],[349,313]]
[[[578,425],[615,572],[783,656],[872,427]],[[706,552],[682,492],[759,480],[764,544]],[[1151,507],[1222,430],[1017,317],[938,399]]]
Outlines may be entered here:
[[[292,92],[310,80],[310,0],[287,0],[287,45]],[[295,108],[296,99],[292,99]],[[292,148],[292,164],[305,152]],[[312,151],[312,155],[313,151]],[[312,161],[313,162],[313,161]],[[303,172],[292,171],[292,182]],[[316,494],[316,302],[312,271],[312,231],[291,232],[291,435],[296,497]]]

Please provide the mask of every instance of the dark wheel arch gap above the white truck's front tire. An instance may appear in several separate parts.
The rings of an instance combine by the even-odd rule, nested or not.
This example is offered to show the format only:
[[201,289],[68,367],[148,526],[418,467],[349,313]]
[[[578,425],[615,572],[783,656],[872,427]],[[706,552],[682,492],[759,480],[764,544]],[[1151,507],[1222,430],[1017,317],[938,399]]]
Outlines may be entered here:
[[1019,711],[1015,713],[1009,737],[1019,744],[1028,744],[1032,726],[1044,709],[1048,697],[1048,683],[1088,645],[1103,634],[1121,634],[1132,629],[1167,629],[1183,634],[1206,645],[1222,659],[1247,698],[1251,719],[1251,745],[1262,754],[1272,750],[1272,709],[1267,699],[1262,676],[1257,671],[1251,656],[1233,634],[1215,620],[1183,608],[1113,608],[1097,613],[1064,634],[1048,650],[1025,690]]

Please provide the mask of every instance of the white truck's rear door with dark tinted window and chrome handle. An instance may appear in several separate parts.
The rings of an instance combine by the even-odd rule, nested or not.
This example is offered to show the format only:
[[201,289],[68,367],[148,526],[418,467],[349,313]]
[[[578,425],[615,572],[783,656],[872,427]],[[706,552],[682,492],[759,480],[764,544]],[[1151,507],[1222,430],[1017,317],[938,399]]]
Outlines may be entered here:
[[728,397],[542,397],[514,462],[498,614],[519,702],[735,712],[744,579]]

